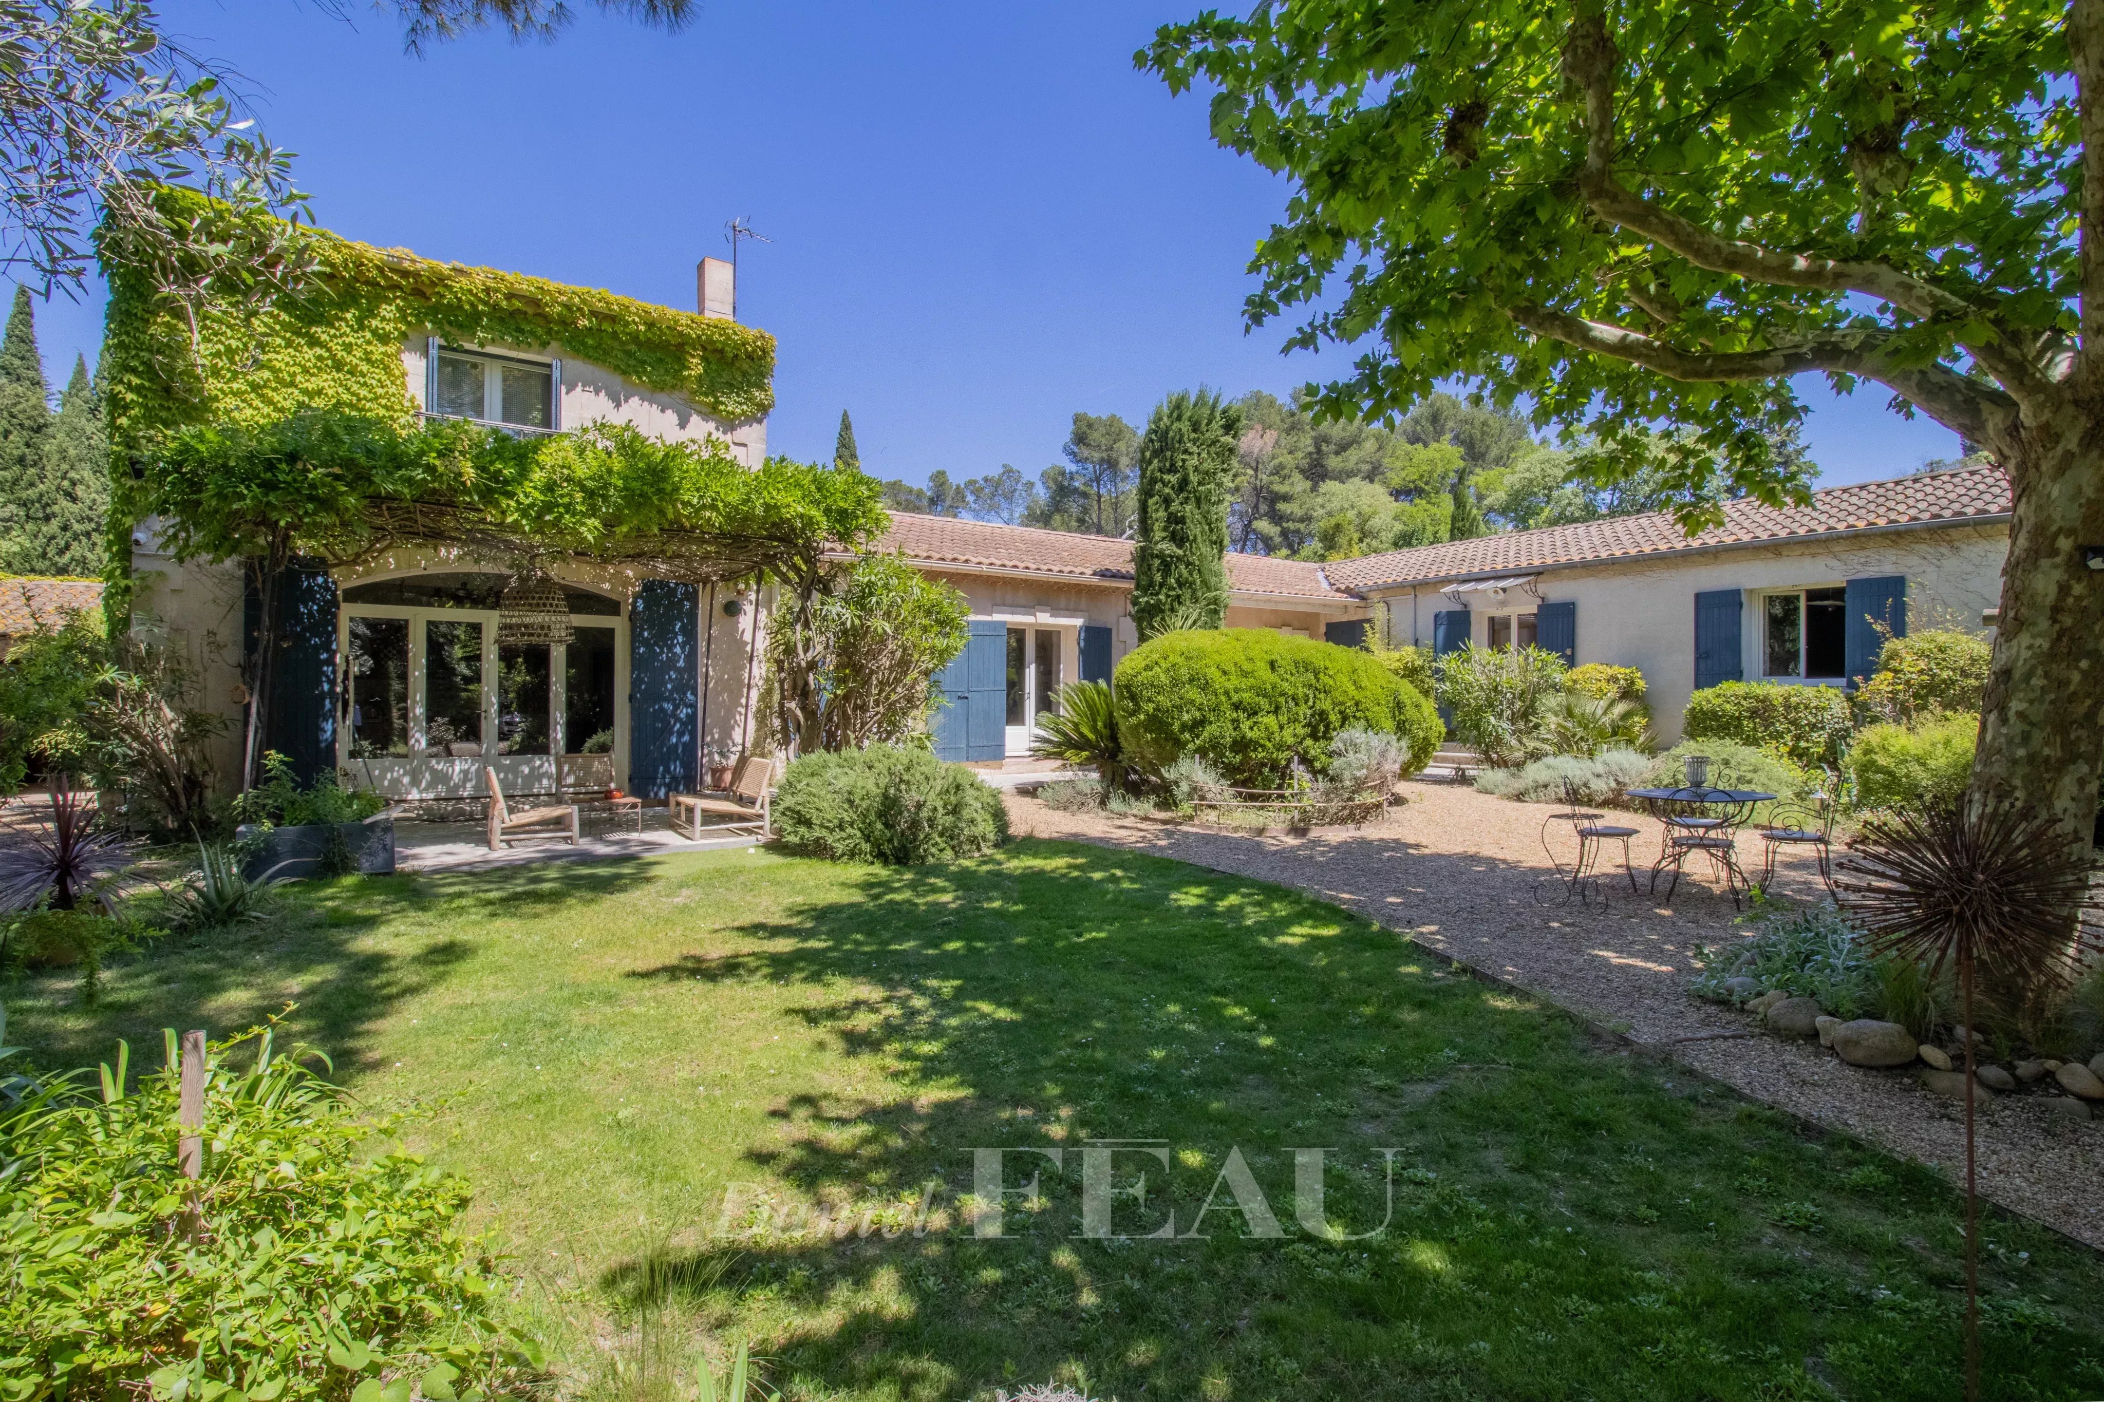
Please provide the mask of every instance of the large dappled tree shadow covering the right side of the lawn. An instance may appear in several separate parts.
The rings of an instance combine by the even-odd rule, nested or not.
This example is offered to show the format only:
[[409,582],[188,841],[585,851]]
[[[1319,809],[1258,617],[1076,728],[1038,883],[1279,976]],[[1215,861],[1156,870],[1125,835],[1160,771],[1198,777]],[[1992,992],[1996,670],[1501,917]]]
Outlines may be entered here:
[[[827,1396],[1950,1396],[1959,1219],[1931,1171],[1281,887],[1035,841],[850,887],[726,931],[757,950],[631,975],[835,992],[795,1015],[892,1091],[778,1097],[755,1185],[703,1249],[610,1267],[621,1307],[751,1335]],[[1159,1150],[1109,1156],[1117,1188],[1147,1173],[1113,1230],[1174,1240],[1084,1236],[1109,1139]],[[1041,1198],[978,1240],[962,1198],[995,1146],[1060,1162],[1010,1156]],[[1344,1232],[1382,1223],[1397,1150],[1384,1232],[1298,1225],[1292,1150],[1317,1146]],[[1231,1150],[1281,1236],[1243,1236]],[[2093,1391],[2098,1259],[1988,1221],[1988,1396]]]

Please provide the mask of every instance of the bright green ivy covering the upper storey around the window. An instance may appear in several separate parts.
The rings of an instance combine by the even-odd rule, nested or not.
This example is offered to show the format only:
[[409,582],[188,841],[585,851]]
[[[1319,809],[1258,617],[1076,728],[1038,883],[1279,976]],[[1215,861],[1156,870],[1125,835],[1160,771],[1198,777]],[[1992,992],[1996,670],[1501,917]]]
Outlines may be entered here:
[[309,238],[318,263],[309,288],[263,313],[208,311],[196,355],[177,309],[126,269],[105,269],[101,364],[120,452],[156,429],[265,425],[301,408],[406,416],[414,404],[402,347],[417,334],[560,347],[724,422],[774,408],[774,336],[751,326],[326,231]]

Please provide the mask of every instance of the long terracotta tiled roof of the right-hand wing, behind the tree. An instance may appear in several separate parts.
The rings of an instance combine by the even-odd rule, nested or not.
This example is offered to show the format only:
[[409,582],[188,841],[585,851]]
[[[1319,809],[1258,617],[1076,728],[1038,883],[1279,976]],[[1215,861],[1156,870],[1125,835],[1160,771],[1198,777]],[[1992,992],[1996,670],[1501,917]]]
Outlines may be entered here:
[[1502,536],[1477,536],[1475,540],[1420,544],[1408,551],[1332,561],[1323,570],[1332,584],[1363,591],[1879,525],[1967,521],[2007,515],[2007,511],[2009,481],[1999,467],[1961,467],[1946,473],[1826,488],[1814,492],[1805,507],[1763,507],[1755,500],[1725,502],[1723,525],[1713,525],[1696,536],[1687,536],[1671,513],[1654,511],[1580,521],[1578,525],[1544,525]]

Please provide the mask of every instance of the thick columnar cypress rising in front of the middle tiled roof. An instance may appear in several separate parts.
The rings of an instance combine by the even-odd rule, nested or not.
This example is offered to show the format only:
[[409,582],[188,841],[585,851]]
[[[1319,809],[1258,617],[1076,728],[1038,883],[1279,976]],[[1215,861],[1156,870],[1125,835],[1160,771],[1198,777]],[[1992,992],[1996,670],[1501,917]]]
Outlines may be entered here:
[[1227,620],[1227,498],[1239,437],[1241,408],[1208,389],[1176,391],[1147,420],[1132,551],[1140,637]]

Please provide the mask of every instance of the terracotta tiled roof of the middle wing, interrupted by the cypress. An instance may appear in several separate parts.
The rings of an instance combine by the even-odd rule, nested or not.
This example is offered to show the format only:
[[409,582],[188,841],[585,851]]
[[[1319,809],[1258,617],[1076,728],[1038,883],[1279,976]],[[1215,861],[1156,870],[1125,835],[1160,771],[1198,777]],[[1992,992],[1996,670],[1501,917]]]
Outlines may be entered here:
[[[892,528],[875,540],[875,549],[905,551],[907,559],[926,565],[1025,570],[1113,584],[1132,582],[1132,542],[1113,536],[1081,536],[1065,530],[894,511]],[[1250,595],[1336,601],[1351,597],[1330,586],[1321,565],[1269,555],[1229,551],[1227,582],[1237,593]]]

